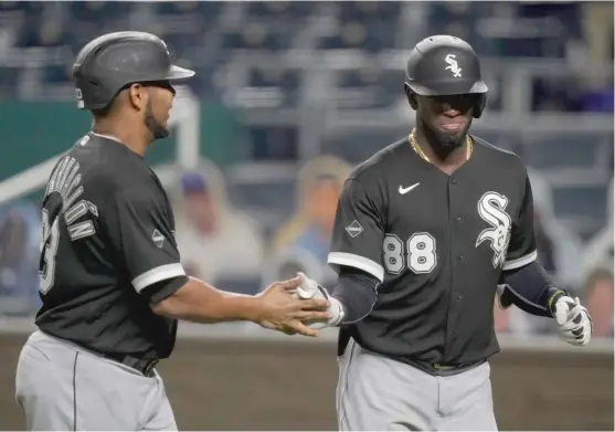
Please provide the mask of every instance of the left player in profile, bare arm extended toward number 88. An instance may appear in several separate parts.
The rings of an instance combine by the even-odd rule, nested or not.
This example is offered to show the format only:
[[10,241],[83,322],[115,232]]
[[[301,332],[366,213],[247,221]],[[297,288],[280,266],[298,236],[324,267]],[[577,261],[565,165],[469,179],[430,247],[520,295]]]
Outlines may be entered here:
[[94,124],[42,202],[43,305],[15,377],[28,430],[177,430],[155,365],[171,355],[178,319],[315,336],[301,320],[329,317],[327,301],[293,297],[298,277],[253,297],[185,276],[173,212],[144,155],[169,134],[171,82],[192,75],[149,33],[100,36],[76,59],[78,107]]

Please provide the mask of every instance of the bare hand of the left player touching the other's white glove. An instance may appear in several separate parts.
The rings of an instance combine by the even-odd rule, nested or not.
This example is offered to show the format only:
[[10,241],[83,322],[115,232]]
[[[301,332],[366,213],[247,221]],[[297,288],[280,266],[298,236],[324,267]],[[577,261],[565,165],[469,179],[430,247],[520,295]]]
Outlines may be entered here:
[[258,296],[262,313],[257,324],[262,327],[283,331],[287,335],[317,336],[318,330],[308,328],[301,322],[329,319],[329,302],[322,298],[298,299],[291,293],[300,285],[299,277],[269,285]]

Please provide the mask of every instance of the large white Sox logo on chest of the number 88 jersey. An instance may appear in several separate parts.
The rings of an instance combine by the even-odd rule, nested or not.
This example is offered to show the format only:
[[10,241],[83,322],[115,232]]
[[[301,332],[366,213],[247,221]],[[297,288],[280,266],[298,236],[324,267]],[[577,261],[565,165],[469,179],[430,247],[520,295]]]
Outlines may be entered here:
[[487,192],[478,200],[478,214],[491,226],[483,230],[476,240],[476,247],[488,240],[494,250],[494,268],[502,266],[510,242],[510,215],[505,211],[508,198],[498,192]]

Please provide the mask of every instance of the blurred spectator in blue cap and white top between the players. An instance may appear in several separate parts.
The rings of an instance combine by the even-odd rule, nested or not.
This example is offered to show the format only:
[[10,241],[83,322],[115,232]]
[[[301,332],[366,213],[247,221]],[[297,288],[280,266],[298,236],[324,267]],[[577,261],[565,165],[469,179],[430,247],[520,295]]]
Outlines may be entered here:
[[203,162],[179,180],[176,239],[187,272],[211,283],[259,275],[263,240],[252,220],[231,208],[218,168]]

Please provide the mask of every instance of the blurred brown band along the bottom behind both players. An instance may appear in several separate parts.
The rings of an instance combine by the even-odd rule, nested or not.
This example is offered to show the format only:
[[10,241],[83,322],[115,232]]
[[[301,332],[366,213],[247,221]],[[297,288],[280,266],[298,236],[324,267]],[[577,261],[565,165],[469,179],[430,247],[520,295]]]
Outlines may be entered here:
[[[14,367],[24,336],[0,335],[0,429],[22,430]],[[613,354],[506,349],[491,361],[500,430],[613,431]],[[332,344],[180,340],[159,368],[183,430],[335,430]]]

